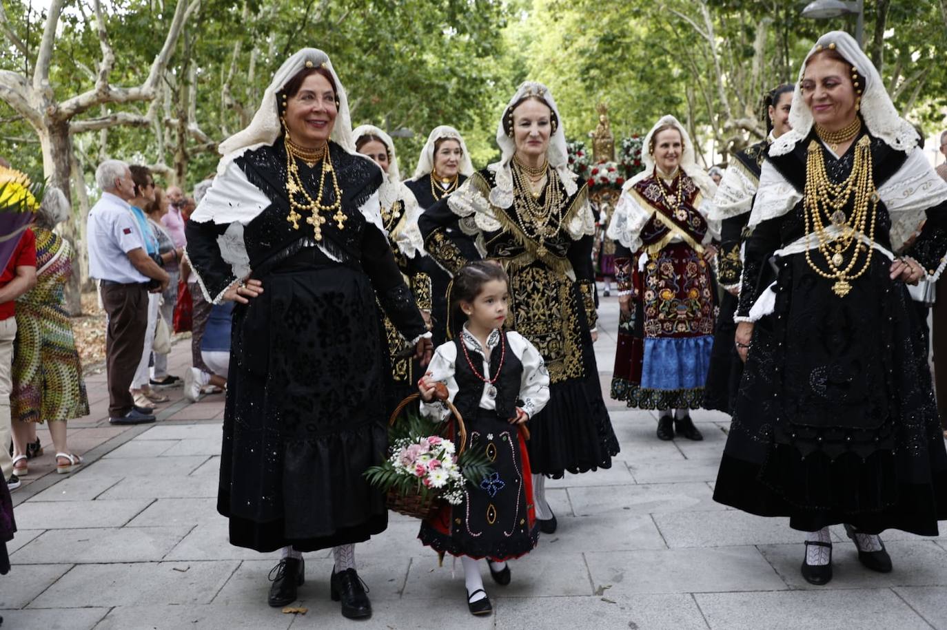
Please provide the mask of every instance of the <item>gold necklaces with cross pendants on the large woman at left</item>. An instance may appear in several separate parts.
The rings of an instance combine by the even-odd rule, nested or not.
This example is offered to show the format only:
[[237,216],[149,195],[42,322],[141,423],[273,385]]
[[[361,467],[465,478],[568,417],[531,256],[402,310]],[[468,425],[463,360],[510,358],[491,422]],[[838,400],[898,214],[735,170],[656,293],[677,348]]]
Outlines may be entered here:
[[[315,239],[322,240],[322,224],[326,222],[326,218],[321,213],[330,213],[334,210],[332,220],[336,222],[340,230],[344,229],[348,217],[342,212],[342,190],[339,188],[335,169],[332,168],[329,144],[326,143],[319,149],[304,149],[290,139],[289,131],[287,131],[284,145],[286,147],[286,192],[289,193],[290,200],[290,214],[286,220],[293,223],[294,230],[298,230],[299,219],[302,219],[303,213],[309,213],[310,217],[306,219],[306,222],[313,226]],[[299,160],[310,168],[322,162],[322,170],[319,173],[319,191],[315,199],[306,191],[306,186],[299,178]],[[326,205],[324,201],[327,175],[332,180],[335,200],[331,205]]]

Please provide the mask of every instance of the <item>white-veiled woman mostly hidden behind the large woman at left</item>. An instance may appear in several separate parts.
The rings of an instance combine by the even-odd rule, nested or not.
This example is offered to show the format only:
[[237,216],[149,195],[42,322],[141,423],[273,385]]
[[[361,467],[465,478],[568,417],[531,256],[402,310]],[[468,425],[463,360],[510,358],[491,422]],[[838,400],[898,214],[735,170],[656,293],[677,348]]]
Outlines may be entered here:
[[[352,131],[352,136],[355,149],[374,160],[384,171],[384,182],[379,187],[378,197],[388,246],[395,256],[398,269],[402,271],[402,278],[411,288],[425,323],[430,324],[431,279],[426,273],[413,272],[415,259],[424,254],[418,231],[420,207],[414,194],[402,182],[395,144],[391,136],[374,125],[360,125]],[[418,378],[423,373],[417,365],[417,359],[412,358],[414,347],[402,337],[398,326],[384,313],[380,320],[384,322],[384,338],[388,347],[386,369],[391,375],[387,379],[389,387],[385,392],[385,409],[394,411],[405,396],[417,391]]]

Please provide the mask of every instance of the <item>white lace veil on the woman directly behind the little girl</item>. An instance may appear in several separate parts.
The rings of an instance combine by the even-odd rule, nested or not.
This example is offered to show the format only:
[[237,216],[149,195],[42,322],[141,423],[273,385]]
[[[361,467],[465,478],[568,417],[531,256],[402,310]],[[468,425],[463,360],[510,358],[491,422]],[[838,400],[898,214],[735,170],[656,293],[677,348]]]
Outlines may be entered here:
[[559,114],[552,92],[538,81],[523,81],[516,89],[516,93],[509,99],[507,107],[500,116],[500,123],[496,129],[496,144],[500,148],[500,161],[489,168],[496,173],[496,185],[490,191],[490,201],[501,208],[508,208],[513,203],[513,173],[509,163],[516,153],[516,141],[509,136],[508,125],[512,124],[512,111],[521,101],[536,97],[542,100],[552,112],[556,120],[556,129],[549,136],[549,148],[545,151],[545,159],[549,166],[556,169],[559,179],[565,187],[567,195],[574,195],[579,189],[576,176],[569,170],[569,154],[565,148],[565,130],[563,116]]

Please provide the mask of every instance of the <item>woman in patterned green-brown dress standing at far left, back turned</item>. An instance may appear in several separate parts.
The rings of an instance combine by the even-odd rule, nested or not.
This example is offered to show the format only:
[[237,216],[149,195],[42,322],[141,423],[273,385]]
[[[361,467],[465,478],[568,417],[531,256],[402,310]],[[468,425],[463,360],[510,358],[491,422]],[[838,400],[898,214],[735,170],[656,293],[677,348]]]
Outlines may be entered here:
[[33,234],[36,236],[36,286],[17,300],[13,359],[13,471],[27,474],[27,446],[35,444],[36,424],[47,425],[56,449],[56,471],[71,472],[82,464],[66,443],[66,421],[89,413],[72,323],[63,289],[72,275],[72,246],[53,232],[68,219],[72,206],[59,188],[43,197]]

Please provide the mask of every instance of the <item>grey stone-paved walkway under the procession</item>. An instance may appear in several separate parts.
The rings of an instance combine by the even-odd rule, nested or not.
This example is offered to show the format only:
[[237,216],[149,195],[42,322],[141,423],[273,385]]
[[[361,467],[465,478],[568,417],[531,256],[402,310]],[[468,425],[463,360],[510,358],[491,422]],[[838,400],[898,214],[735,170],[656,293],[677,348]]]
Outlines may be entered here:
[[[615,352],[616,299],[603,300],[599,373]],[[171,355],[189,365],[188,342]],[[87,464],[52,471],[47,453],[13,493],[20,531],[13,569],[0,577],[9,628],[947,628],[947,536],[889,532],[895,569],[858,563],[835,531],[834,580],[799,575],[802,536],[785,519],[747,516],[711,499],[727,418],[693,414],[706,440],[663,443],[656,418],[610,401],[622,452],[609,470],[547,484],[559,531],[511,563],[510,586],[484,569],[493,616],[467,612],[462,569],[415,539],[417,521],[393,515],[356,549],[374,616],[348,621],[329,600],[329,551],[306,554],[296,605],[266,605],[278,554],[227,543],[215,511],[223,396],[188,405],[181,389],[155,425],[108,425],[104,375],[87,380],[92,414],[70,423]],[[45,430],[40,433],[49,445]],[[51,448],[49,449],[51,450]],[[37,463],[37,464],[34,464]]]

